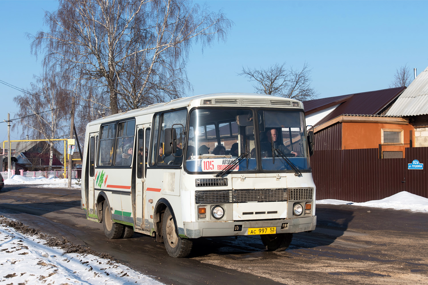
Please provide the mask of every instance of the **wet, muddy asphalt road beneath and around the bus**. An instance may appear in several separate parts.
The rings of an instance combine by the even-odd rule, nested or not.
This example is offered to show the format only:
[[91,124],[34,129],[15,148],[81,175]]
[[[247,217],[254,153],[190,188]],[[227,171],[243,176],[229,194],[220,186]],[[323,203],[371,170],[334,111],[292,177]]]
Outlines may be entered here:
[[[108,240],[86,220],[80,189],[8,185],[0,214],[48,235],[108,253],[165,284],[428,284],[428,214],[352,205],[317,205],[317,229],[295,234],[283,252],[259,237],[203,238],[189,258],[135,233]],[[159,279],[160,278],[160,279]]]

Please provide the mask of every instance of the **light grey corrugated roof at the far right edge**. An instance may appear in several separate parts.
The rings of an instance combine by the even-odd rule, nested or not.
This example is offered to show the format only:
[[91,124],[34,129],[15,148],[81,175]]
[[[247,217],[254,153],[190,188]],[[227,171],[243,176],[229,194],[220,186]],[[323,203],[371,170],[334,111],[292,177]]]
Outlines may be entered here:
[[428,67],[398,97],[387,116],[417,116],[428,114]]

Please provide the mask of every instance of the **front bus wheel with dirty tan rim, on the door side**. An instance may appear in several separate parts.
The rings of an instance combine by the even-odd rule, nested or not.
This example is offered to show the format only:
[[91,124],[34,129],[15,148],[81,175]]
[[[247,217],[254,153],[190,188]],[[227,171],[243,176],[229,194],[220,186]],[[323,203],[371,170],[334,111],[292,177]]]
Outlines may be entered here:
[[166,208],[162,221],[163,243],[166,252],[172,257],[186,257],[192,250],[193,242],[188,238],[181,238],[175,230],[174,217],[169,208]]

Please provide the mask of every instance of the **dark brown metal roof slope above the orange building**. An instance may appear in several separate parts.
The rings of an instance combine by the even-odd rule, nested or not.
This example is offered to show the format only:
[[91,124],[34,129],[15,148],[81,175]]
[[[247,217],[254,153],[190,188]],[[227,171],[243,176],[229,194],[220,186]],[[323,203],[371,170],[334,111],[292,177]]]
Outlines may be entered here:
[[[336,109],[333,110],[333,112],[324,117],[324,119],[320,120],[317,123],[317,126],[344,114],[352,114],[354,116],[377,115],[386,106],[388,106],[389,103],[392,102],[392,100],[395,100],[395,98],[397,98],[398,95],[400,95],[405,89],[406,87],[396,87],[353,94],[350,97],[346,98],[345,102],[340,104]],[[308,104],[309,103],[305,102],[305,106],[307,106]]]

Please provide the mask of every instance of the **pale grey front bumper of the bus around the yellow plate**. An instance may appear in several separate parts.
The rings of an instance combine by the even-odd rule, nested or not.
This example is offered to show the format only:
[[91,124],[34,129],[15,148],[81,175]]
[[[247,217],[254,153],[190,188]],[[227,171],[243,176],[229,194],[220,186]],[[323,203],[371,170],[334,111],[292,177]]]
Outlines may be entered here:
[[179,232],[187,238],[248,235],[249,228],[276,227],[276,233],[307,232],[315,229],[317,216],[280,220],[184,222]]

